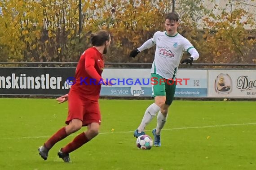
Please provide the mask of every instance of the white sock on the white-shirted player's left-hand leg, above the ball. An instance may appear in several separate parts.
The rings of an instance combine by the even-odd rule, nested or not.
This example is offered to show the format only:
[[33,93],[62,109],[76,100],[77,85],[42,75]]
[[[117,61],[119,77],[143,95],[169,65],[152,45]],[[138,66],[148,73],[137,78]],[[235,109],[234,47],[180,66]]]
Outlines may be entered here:
[[[141,131],[144,131],[146,125],[150,123],[150,121],[155,117],[157,112],[159,112],[160,107],[157,106],[155,103],[151,104],[144,114],[144,117],[141,121],[140,126],[138,127],[138,132],[141,133]],[[161,114],[162,115],[162,114]],[[158,117],[158,116],[157,116]]]

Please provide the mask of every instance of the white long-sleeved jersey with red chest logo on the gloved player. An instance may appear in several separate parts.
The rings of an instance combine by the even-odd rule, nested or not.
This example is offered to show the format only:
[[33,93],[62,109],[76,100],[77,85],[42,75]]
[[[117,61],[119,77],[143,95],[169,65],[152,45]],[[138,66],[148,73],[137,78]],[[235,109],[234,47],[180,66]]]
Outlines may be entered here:
[[[175,79],[184,52],[194,48],[193,45],[181,34],[169,36],[166,31],[157,31],[151,41],[152,44],[156,44],[151,73],[156,73],[166,79]],[[138,48],[139,51],[152,47],[149,43],[143,45]]]

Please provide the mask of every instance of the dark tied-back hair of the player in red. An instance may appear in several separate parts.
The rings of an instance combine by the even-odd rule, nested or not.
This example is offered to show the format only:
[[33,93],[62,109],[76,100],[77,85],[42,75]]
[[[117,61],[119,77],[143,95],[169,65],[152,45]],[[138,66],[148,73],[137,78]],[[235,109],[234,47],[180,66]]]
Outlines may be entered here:
[[110,34],[106,30],[99,30],[97,33],[91,34],[91,43],[93,46],[102,46],[109,40]]

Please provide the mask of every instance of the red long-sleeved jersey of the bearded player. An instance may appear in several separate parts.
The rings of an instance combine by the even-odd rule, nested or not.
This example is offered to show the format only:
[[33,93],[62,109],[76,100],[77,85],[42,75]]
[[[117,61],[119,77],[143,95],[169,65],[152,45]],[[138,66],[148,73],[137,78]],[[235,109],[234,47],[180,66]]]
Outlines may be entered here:
[[88,48],[81,55],[75,69],[75,84],[70,92],[79,93],[79,96],[97,101],[100,97],[102,71],[104,68],[103,55],[95,48]]

